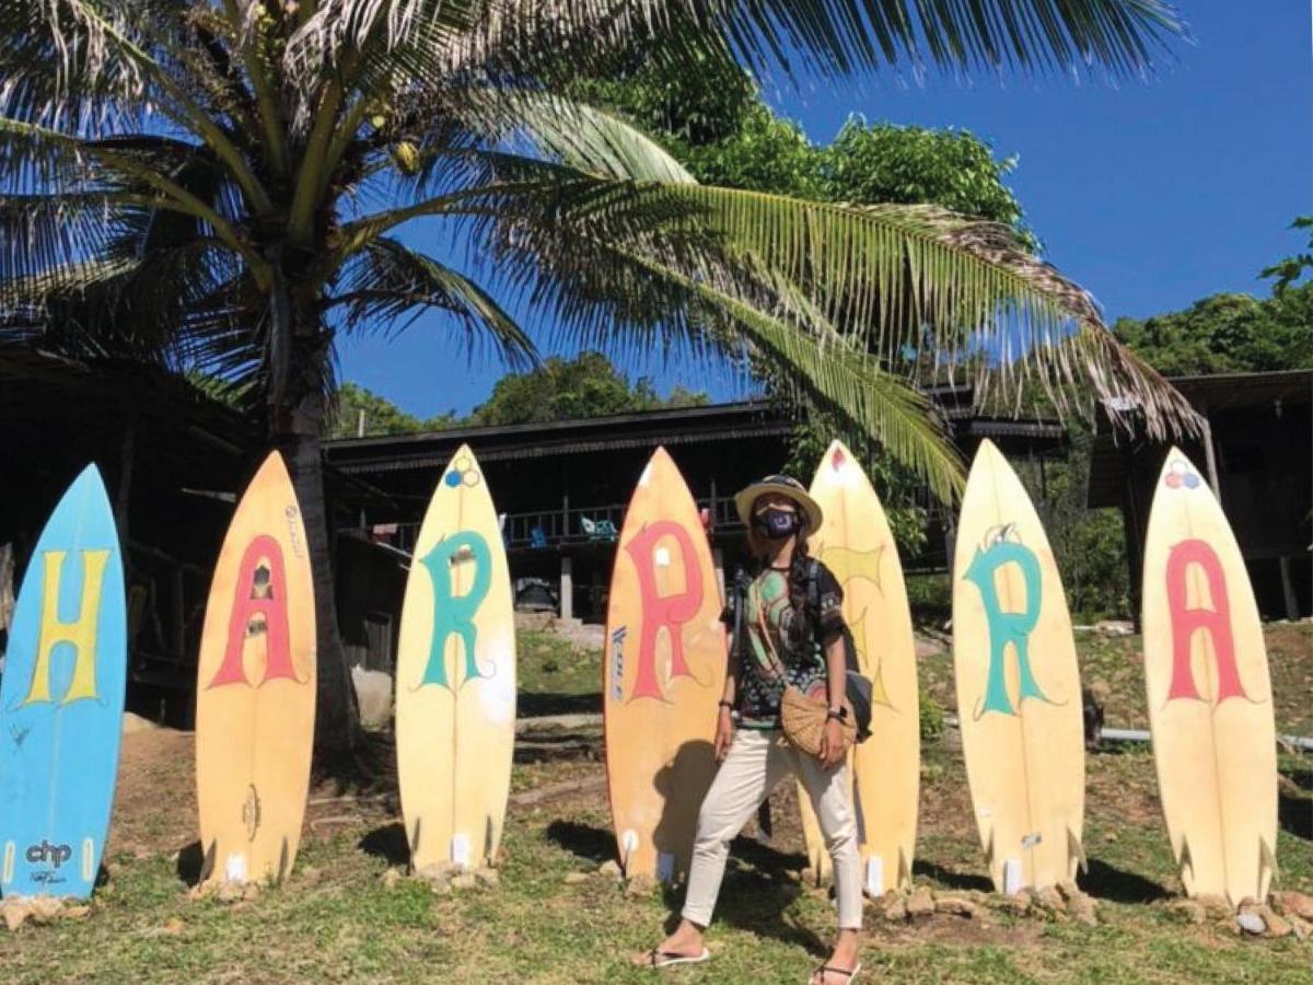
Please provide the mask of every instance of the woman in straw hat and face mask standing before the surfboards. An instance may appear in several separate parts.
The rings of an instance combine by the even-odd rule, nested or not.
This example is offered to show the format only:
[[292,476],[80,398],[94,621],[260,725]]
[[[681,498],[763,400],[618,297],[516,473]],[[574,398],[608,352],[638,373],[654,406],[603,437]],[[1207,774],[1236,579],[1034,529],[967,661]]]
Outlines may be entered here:
[[[861,971],[861,863],[843,738],[847,667],[843,591],[807,554],[821,507],[797,479],[768,475],[734,499],[760,567],[743,594],[746,645],[730,654],[716,728],[721,767],[697,816],[683,919],[660,946],[635,955],[651,968],[705,961],[702,934],[725,875],[729,844],[786,775],[811,799],[834,860],[839,935],[811,985],[848,985]],[[784,741],[780,705],[786,687],[826,701],[818,756]],[[735,726],[737,717],[737,726]]]

